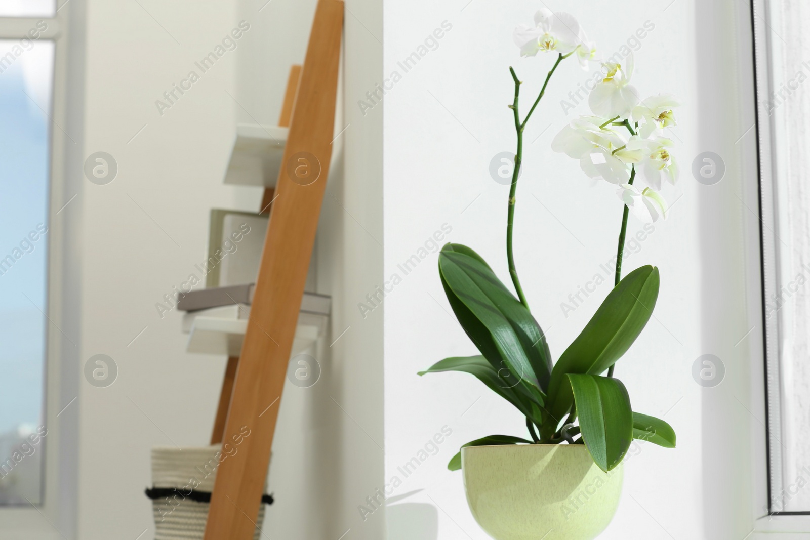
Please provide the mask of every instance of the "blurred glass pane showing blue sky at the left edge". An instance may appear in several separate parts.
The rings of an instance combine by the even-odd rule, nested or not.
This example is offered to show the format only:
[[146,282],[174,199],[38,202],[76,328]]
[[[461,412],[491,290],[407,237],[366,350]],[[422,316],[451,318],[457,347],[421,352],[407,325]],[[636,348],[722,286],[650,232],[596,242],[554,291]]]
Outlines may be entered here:
[[0,71],[0,504],[6,505],[42,502],[53,53],[52,41],[23,48],[19,40],[0,40],[0,57],[13,57]]

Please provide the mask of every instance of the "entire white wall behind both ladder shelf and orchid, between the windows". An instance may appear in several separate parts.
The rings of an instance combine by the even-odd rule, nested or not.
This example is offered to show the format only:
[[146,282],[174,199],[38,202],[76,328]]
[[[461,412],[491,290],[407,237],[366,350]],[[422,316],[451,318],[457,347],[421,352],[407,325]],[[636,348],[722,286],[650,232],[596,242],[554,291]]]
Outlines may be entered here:
[[[79,378],[83,540],[136,538],[144,529],[142,538],[151,538],[142,492],[149,449],[205,444],[210,434],[224,359],[186,354],[179,315],[160,319],[155,303],[204,257],[211,207],[258,207],[258,189],[221,183],[233,124],[254,118],[275,124],[288,66],[303,58],[314,5],[274,0],[258,11],[264,3],[198,2],[190,9],[87,0],[83,155],[109,152],[119,174],[109,185],[83,182],[65,210],[80,225],[72,239],[82,261],[77,368],[104,353],[120,371],[106,389]],[[666,193],[678,202],[625,264],[659,266],[657,318],[616,373],[634,408],[663,415],[676,428],[679,449],[638,447],[604,538],[743,538],[754,506],[748,470],[756,451],[748,450],[749,437],[764,421],[748,368],[761,349],[760,330],[740,342],[757,320],[758,305],[748,299],[758,275],[744,272],[758,257],[748,248],[757,221],[734,197],[756,210],[756,186],[746,176],[754,166],[753,140],[735,143],[752,123],[750,67],[732,60],[736,48],[749,47],[750,21],[744,2],[668,4],[549,4],[573,11],[608,55],[649,20],[655,28],[636,53],[634,81],[643,94],[671,91],[684,100],[675,130],[682,176]],[[386,2],[383,19],[382,2],[347,2],[344,110],[336,126],[336,132],[347,126],[336,142],[344,153],[336,152],[318,239],[318,288],[334,297],[332,326],[318,352],[322,383],[309,393],[285,390],[279,433],[289,444],[274,447],[271,491],[278,503],[267,514],[270,538],[334,540],[345,533],[377,540],[386,520],[388,538],[486,538],[467,509],[460,474],[447,471],[446,462],[468,440],[522,435],[525,427],[471,376],[416,376],[437,359],[475,348],[450,315],[436,254],[407,276],[397,265],[446,223],[452,227],[446,240],[471,245],[506,276],[508,188],[492,181],[488,164],[514,147],[507,67],[526,81],[526,104],[552,60],[519,59],[511,42],[514,26],[530,23],[537,8],[524,0]],[[240,49],[160,116],[155,100],[241,19],[251,30]],[[361,107],[360,100],[370,103],[366,92],[401,72],[397,62],[445,20],[452,29],[438,48],[382,104]],[[560,304],[613,256],[620,224],[612,189],[590,188],[576,163],[548,148],[566,121],[587,112],[580,105],[566,117],[560,100],[589,76],[573,63],[561,66],[527,129],[518,185],[518,270],[555,357],[609,286],[567,318]],[[698,185],[689,173],[702,151],[726,160],[727,177],[717,189]],[[631,219],[629,231],[641,226]],[[382,307],[361,313],[358,304],[370,305],[366,296],[394,272],[403,282]],[[694,359],[707,352],[727,367],[717,389],[701,389],[691,376]],[[361,517],[366,498],[400,475],[397,467],[444,426],[452,436],[403,478],[394,493],[403,498],[389,499],[387,512]],[[411,494],[416,490],[422,491]]]

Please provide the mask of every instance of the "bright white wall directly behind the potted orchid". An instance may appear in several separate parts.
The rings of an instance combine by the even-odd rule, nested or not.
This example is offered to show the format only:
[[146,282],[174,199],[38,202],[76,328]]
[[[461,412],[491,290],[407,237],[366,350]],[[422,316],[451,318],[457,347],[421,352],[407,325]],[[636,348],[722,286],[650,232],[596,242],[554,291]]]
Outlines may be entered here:
[[[554,61],[542,54],[519,58],[511,38],[514,27],[530,24],[544,5],[386,2],[386,74],[403,74],[397,62],[442,21],[453,25],[385,97],[384,273],[403,278],[385,299],[386,481],[404,480],[394,495],[422,490],[398,503],[409,507],[389,506],[389,538],[488,538],[467,508],[460,474],[446,470],[446,463],[461,444],[480,436],[526,436],[524,419],[474,377],[416,376],[438,359],[476,351],[445,299],[436,253],[407,275],[397,265],[447,223],[452,227],[447,240],[476,249],[509,282],[504,248],[509,187],[493,181],[488,166],[498,152],[514,151],[508,67],[525,81],[525,115]],[[625,260],[625,274],[644,264],[659,267],[655,317],[616,368],[633,409],[671,423],[678,449],[633,447],[619,510],[600,538],[744,538],[754,505],[749,430],[761,432],[757,422],[764,422],[763,415],[755,418],[760,411],[752,405],[755,381],[748,369],[751,357],[761,355],[761,327],[742,340],[759,313],[756,301],[747,302],[757,299],[758,268],[749,265],[758,257],[757,219],[738,200],[757,209],[751,176],[756,147],[752,135],[735,144],[753,122],[750,53],[748,64],[737,63],[738,54],[744,58],[750,51],[748,6],[694,0],[548,6],[577,16],[606,57],[649,21],[654,29],[635,53],[633,82],[642,97],[671,92],[684,102],[671,135],[680,182],[664,192],[673,204],[671,216],[655,223],[638,252]],[[612,283],[600,264],[614,256],[620,228],[622,208],[612,187],[602,181],[591,187],[576,162],[550,149],[566,122],[589,114],[586,103],[567,116],[561,107],[569,91],[589,77],[573,60],[558,68],[527,128],[518,184],[518,272],[555,359],[610,285],[599,287],[568,317],[561,303],[595,274]],[[702,151],[723,155],[727,174],[717,186],[700,185],[691,174]],[[629,235],[641,228],[631,217]],[[752,240],[755,247],[748,249]],[[748,266],[754,270],[746,274]],[[705,353],[721,357],[727,368],[727,380],[714,389],[701,388],[691,375],[693,362]],[[453,434],[438,455],[403,478],[398,466],[443,426]],[[437,529],[411,529],[417,516],[430,517]]]

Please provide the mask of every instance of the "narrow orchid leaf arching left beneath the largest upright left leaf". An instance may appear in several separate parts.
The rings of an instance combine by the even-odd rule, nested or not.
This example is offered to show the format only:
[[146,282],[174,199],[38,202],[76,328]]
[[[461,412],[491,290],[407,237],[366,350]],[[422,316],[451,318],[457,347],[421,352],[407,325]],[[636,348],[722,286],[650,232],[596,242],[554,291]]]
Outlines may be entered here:
[[[452,356],[445,358],[439,360],[424,372],[419,372],[418,375],[439,372],[471,373],[501,398],[517,407],[522,415],[528,416],[538,424],[543,420],[541,410],[545,403],[544,394],[539,390],[535,393],[529,393],[525,386],[518,385],[516,381],[510,383],[505,380],[498,375],[498,372],[495,368],[492,368],[492,365],[484,356]],[[501,372],[506,373],[507,371],[502,370]]]

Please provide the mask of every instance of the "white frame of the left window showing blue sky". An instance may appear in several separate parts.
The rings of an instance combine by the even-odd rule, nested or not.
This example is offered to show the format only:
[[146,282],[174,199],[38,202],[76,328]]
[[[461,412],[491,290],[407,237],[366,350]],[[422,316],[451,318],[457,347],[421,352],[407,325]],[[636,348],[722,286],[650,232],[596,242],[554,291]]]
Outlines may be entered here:
[[[0,540],[75,538],[79,450],[79,232],[83,113],[83,0],[56,0],[53,17],[0,17],[0,39],[19,40],[36,23],[53,41],[49,112],[49,216],[47,237],[45,388],[42,504],[0,506]],[[72,24],[71,24],[72,23]],[[70,33],[73,27],[77,32]],[[70,135],[68,135],[70,134]],[[75,171],[78,170],[77,175]],[[72,206],[66,205],[69,199]],[[62,211],[60,211],[62,210]],[[59,213],[57,213],[59,212]],[[64,333],[64,334],[63,334]],[[71,336],[66,338],[66,335]]]

